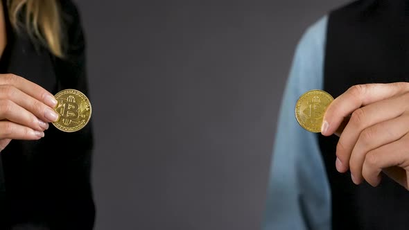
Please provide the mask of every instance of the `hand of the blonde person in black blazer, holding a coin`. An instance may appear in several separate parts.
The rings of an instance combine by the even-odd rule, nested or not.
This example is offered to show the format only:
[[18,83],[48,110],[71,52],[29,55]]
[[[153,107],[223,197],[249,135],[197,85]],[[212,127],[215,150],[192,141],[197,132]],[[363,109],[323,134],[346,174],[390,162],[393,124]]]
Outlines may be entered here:
[[57,100],[48,91],[19,76],[0,74],[0,151],[11,139],[37,140],[49,122],[57,121]]

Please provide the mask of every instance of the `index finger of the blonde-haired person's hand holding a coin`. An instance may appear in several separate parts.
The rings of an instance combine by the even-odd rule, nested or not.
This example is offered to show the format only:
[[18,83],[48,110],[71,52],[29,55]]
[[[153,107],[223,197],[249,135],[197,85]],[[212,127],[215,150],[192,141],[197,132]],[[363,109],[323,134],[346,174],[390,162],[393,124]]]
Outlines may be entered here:
[[14,74],[3,74],[0,77],[0,85],[13,85],[17,89],[37,100],[40,100],[42,103],[51,108],[54,108],[58,103],[53,94],[46,91],[46,89],[43,87],[40,87],[40,85]]

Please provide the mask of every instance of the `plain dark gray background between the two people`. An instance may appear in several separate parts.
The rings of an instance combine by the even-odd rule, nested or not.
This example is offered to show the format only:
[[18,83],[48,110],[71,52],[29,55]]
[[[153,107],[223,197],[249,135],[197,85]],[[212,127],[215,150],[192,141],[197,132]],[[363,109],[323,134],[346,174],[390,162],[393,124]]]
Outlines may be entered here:
[[306,27],[346,1],[77,1],[96,229],[258,229]]

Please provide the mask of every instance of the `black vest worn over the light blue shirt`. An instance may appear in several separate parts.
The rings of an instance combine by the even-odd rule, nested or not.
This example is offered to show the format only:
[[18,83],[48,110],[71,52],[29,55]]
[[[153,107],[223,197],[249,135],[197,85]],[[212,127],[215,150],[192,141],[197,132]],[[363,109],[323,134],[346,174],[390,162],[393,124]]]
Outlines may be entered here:
[[[324,90],[409,81],[409,1],[354,1],[329,15]],[[333,229],[409,229],[409,191],[384,176],[373,188],[336,171],[338,137],[319,135],[332,195]]]

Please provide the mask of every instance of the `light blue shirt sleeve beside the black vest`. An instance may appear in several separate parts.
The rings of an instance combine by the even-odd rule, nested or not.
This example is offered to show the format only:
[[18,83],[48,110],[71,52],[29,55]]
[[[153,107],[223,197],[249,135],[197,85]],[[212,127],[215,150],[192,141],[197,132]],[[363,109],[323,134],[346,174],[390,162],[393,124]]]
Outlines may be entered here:
[[[295,120],[295,103],[323,87],[327,16],[300,39],[281,101],[263,230],[331,229],[331,193],[317,134]],[[335,162],[334,162],[335,167]]]

